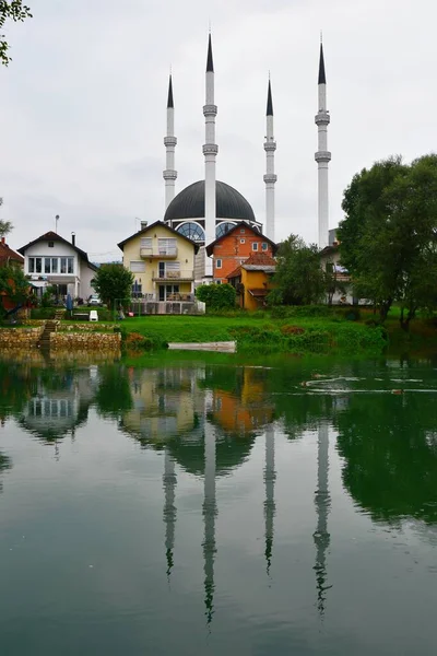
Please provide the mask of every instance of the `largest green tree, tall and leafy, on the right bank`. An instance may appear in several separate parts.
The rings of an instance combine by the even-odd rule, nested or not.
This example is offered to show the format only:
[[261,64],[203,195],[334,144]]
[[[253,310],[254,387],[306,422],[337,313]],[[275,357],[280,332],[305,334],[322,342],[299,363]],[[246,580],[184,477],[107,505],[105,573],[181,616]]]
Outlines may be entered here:
[[417,309],[435,304],[437,289],[437,155],[377,162],[344,192],[341,261],[356,295],[371,300],[381,320],[393,303],[409,328]]

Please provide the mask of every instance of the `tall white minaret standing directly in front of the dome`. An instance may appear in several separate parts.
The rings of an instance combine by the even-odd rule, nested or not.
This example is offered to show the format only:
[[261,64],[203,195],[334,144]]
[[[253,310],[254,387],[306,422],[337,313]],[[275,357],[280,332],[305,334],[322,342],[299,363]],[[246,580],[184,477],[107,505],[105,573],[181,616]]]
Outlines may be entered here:
[[[215,157],[218,147],[215,143],[215,117],[217,107],[214,105],[214,65],[212,60],[211,34],[208,40],[206,58],[206,94],[203,116],[205,117],[205,246],[215,239]],[[205,277],[212,278],[212,259],[205,253]]]

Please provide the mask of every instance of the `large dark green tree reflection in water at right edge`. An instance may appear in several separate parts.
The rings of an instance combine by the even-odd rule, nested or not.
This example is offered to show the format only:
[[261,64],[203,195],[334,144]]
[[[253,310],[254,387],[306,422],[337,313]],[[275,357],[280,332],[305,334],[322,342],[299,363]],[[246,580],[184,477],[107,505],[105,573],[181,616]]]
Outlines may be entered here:
[[351,396],[339,413],[343,481],[374,519],[437,522],[435,402],[426,393]]

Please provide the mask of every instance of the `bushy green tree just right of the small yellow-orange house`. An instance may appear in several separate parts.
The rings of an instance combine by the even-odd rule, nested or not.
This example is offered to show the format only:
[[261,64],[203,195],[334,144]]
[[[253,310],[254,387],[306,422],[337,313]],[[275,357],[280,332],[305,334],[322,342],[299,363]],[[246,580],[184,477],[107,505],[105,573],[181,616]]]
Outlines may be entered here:
[[276,288],[269,294],[271,305],[310,305],[324,297],[327,280],[317,246],[307,246],[300,237],[291,235],[281,244],[276,262]]

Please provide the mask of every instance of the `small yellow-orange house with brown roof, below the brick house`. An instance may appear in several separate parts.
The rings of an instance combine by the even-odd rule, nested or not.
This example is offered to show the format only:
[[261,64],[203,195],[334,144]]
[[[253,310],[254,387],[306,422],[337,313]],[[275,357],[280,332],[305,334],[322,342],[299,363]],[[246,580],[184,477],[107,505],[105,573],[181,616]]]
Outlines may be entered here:
[[274,288],[276,261],[267,253],[253,253],[227,276],[237,291],[237,302],[245,309],[264,307],[265,296]]

